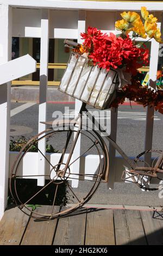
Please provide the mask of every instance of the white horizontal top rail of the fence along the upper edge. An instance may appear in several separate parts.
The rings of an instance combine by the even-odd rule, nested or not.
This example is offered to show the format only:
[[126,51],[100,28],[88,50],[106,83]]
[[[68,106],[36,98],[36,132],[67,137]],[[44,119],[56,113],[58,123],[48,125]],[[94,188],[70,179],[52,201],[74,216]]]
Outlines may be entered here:
[[[101,3],[99,3],[101,2]],[[120,1],[118,1],[120,2]],[[140,11],[142,2],[145,2],[145,5],[147,7],[147,10],[150,11],[162,11],[162,1],[158,0],[153,2],[149,1],[140,1],[140,0],[135,0],[131,2],[131,0],[124,0],[121,1],[121,4],[116,4],[115,8],[115,2],[112,0],[86,0],[86,1],[58,1],[58,0],[53,0],[53,1],[47,1],[47,0],[42,0],[42,1],[37,1],[37,0],[28,0],[26,2],[22,2],[20,0],[5,0],[5,3],[8,3],[14,7],[27,7],[27,8],[49,8],[49,9],[65,9],[66,11],[68,9],[73,9],[73,10],[78,10],[78,9],[86,9],[86,10],[97,10],[97,11],[106,11],[106,10],[117,10],[117,11]],[[0,3],[3,3],[1,0]],[[65,21],[66,22],[66,21]]]

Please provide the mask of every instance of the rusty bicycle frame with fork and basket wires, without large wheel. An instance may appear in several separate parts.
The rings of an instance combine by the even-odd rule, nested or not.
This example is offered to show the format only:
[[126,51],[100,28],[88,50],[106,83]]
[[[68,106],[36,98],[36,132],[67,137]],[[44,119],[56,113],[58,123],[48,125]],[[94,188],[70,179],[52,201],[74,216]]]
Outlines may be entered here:
[[[80,47],[80,44],[78,44],[77,42],[73,42],[73,41],[71,41],[71,40],[65,39],[64,42],[65,42],[65,46],[70,47],[70,48],[71,48],[71,46]],[[74,53],[73,53],[73,54],[74,54]],[[77,58],[77,59],[76,59],[75,65],[74,65],[74,69],[76,68],[76,65],[77,65],[77,63],[78,63],[79,56],[80,56],[80,55],[77,54],[77,53],[75,53],[75,54],[76,54],[76,58]],[[71,59],[71,57],[70,57],[70,59]],[[69,60],[69,62],[70,62],[70,60]],[[81,76],[81,74],[82,74],[82,71],[83,71],[83,68],[84,68],[85,63],[86,63],[86,60],[84,60],[83,67],[82,67],[82,69],[81,69],[81,71],[80,71],[79,78],[78,78],[78,80],[77,80],[77,82],[76,82],[76,84],[75,84],[75,86],[74,86],[73,93],[72,93],[71,96],[74,96],[74,92],[76,91],[76,88],[77,88],[77,86],[78,86],[78,82],[79,82],[80,76]],[[73,72],[74,72],[74,69],[73,69]],[[90,73],[91,73],[91,71],[92,71],[92,68],[91,68],[91,70],[90,70]],[[59,87],[59,90],[60,90],[61,92],[64,92],[65,94],[68,94],[68,93],[67,93],[67,88],[68,88],[68,85],[70,84],[70,82],[71,82],[71,80],[72,80],[73,72],[72,72],[72,74],[71,74],[71,76],[70,76],[70,79],[68,80],[66,89],[63,91],[63,90]],[[89,95],[88,100],[87,100],[87,101],[82,100],[82,94],[83,94],[84,89],[85,89],[85,87],[86,87],[87,81],[89,80],[90,74],[89,74],[89,76],[87,76],[86,82],[85,82],[85,84],[84,84],[84,88],[82,89],[82,93],[80,94],[79,97],[76,97],[78,100],[82,100],[82,101],[83,101],[82,107],[80,108],[80,111],[79,111],[79,127],[78,127],[79,130],[82,128],[82,112],[84,111],[84,112],[86,113],[87,117],[90,118],[90,114],[89,114],[89,112],[88,112],[87,109],[86,109],[86,104],[90,104],[89,101],[90,101],[90,98],[91,98],[93,89],[95,88],[95,84],[96,84],[96,81],[98,80],[98,77],[99,77],[100,72],[101,72],[101,70],[99,70],[99,72],[98,72],[98,75],[97,75],[97,77],[96,77],[96,79],[95,79],[95,83],[94,83],[93,86],[92,86],[92,89],[91,89],[91,92],[90,92],[90,95]],[[106,75],[106,77],[107,77],[107,75]],[[97,99],[98,99],[98,97],[99,97],[99,94],[101,93],[101,90],[102,90],[102,88],[103,88],[103,86],[104,86],[104,82],[105,82],[105,80],[106,80],[106,77],[105,77],[105,79],[104,79],[104,81],[103,81],[103,83],[102,83],[101,89],[100,89],[99,92],[98,92],[98,95],[97,95],[97,98],[96,98],[95,102],[94,102],[93,104],[90,104],[90,105],[92,105],[93,107],[98,108],[98,107],[96,106],[96,102],[97,102]],[[116,83],[117,83],[117,76],[116,76],[116,74],[115,74],[114,79],[113,79],[113,82],[112,82],[112,84],[115,84],[115,86],[114,86],[115,92],[114,92],[114,93],[116,93],[116,90],[118,90],[118,88],[116,87]],[[110,92],[110,89],[108,90],[108,94],[109,94],[109,92]],[[105,108],[108,108],[108,107],[109,107],[109,103],[110,103],[110,102],[109,102],[109,100],[107,100],[108,94],[106,95],[105,100],[104,100],[104,103],[103,103],[103,106],[102,106],[100,109],[105,109]],[[70,94],[68,94],[68,95],[70,95]],[[113,96],[113,94],[112,94],[112,96]],[[110,97],[110,99],[111,99],[111,97]],[[99,124],[97,123],[97,121],[95,120],[95,118],[91,116],[91,120],[92,120],[93,125],[96,125],[96,127],[99,127],[99,131],[102,132],[102,127],[99,126]],[[74,138],[74,143],[73,143],[72,151],[71,151],[71,153],[70,153],[71,156],[72,156],[73,149],[74,149],[74,147],[75,147],[75,145],[76,145],[76,142],[77,142],[77,139],[78,139],[78,136],[79,136],[79,130],[78,130],[78,132],[77,132],[76,138]],[[162,152],[161,150],[160,150],[160,153],[161,153],[161,154],[160,154],[158,160],[156,161],[154,167],[140,167],[140,166],[135,166],[135,164],[130,161],[130,159],[128,158],[128,156],[123,152],[123,150],[117,145],[117,143],[116,143],[110,136],[105,136],[105,138],[113,145],[113,147],[118,151],[118,153],[120,153],[120,155],[123,157],[123,159],[126,160],[126,162],[127,162],[127,163],[129,164],[129,166],[131,167],[131,170],[129,170],[129,173],[131,174],[130,178],[134,179],[134,176],[135,176],[135,175],[138,175],[138,176],[139,176],[139,175],[146,175],[146,176],[150,176],[150,177],[152,177],[152,178],[157,178],[157,173],[163,173],[163,170],[162,170],[162,165],[163,165],[163,152]],[[153,150],[153,151],[154,151],[154,150]],[[146,154],[146,153],[148,153],[148,152],[150,153],[150,150],[147,150],[147,151],[143,152],[142,154]],[[65,169],[64,169],[64,173],[62,173],[62,178],[64,177],[64,175],[65,175],[65,173],[66,173],[66,169],[67,169],[68,163],[70,162],[71,156],[68,157],[67,164],[66,164]],[[124,178],[124,175],[125,175],[125,174],[126,174],[126,171],[124,171],[123,174],[122,174],[122,180],[127,180],[126,178]],[[108,180],[108,178],[105,177],[105,180]],[[135,179],[134,179],[134,182],[137,183],[137,181],[135,181]]]

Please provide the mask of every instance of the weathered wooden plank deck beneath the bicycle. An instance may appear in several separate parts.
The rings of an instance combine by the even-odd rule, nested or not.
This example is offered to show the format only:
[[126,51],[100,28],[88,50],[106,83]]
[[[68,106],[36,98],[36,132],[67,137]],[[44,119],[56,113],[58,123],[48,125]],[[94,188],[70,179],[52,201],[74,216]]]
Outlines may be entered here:
[[[48,212],[51,206],[41,207]],[[82,208],[40,221],[12,208],[0,222],[0,245],[163,245],[163,213]]]

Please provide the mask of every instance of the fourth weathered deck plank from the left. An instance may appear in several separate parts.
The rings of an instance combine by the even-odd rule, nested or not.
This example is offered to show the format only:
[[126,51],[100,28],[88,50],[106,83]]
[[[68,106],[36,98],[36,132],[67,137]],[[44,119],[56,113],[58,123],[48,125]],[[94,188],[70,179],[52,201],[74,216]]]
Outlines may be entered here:
[[112,209],[87,214],[85,245],[115,245]]

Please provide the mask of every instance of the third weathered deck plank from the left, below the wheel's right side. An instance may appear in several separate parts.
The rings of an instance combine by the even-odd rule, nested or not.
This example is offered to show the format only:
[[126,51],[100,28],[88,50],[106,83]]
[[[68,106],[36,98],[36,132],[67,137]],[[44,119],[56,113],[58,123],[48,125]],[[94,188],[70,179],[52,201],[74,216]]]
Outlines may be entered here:
[[86,212],[60,218],[53,245],[84,245]]

